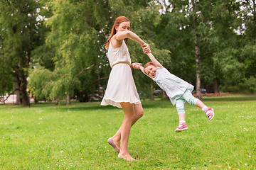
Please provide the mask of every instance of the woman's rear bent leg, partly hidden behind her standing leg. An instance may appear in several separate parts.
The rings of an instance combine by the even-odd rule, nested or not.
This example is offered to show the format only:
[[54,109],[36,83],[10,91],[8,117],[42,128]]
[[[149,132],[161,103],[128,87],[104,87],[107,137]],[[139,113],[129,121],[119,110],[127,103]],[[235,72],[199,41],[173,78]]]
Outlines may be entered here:
[[[142,118],[142,115],[144,115],[144,111],[142,108],[142,104],[136,104],[133,105],[134,106],[134,117],[132,119],[132,125],[134,125],[134,123],[137,122],[137,120],[139,118]],[[116,134],[114,134],[114,136],[112,137],[112,141],[114,142],[114,147],[117,147],[117,152],[119,152],[119,148],[120,148],[120,140],[121,140],[121,127],[119,128],[119,130],[117,130]]]

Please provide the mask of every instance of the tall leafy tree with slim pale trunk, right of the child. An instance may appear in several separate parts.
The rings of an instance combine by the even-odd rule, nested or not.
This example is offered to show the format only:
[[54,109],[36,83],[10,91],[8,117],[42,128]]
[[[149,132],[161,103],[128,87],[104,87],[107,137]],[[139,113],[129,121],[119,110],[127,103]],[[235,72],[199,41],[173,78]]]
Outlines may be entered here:
[[219,92],[220,83],[241,80],[240,41],[233,30],[239,24],[235,1],[169,1],[165,8],[158,46],[171,51],[171,71],[178,77],[193,83],[196,74],[198,98],[202,86]]

